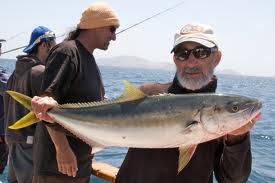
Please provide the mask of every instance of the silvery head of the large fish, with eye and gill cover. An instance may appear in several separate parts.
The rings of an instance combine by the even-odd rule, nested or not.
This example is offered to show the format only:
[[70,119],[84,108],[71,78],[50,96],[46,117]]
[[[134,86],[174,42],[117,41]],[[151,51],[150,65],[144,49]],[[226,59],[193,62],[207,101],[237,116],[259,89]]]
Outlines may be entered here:
[[200,122],[208,133],[222,136],[250,122],[261,108],[254,98],[217,94],[203,102]]

